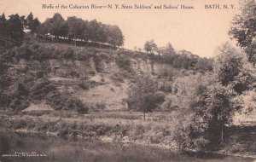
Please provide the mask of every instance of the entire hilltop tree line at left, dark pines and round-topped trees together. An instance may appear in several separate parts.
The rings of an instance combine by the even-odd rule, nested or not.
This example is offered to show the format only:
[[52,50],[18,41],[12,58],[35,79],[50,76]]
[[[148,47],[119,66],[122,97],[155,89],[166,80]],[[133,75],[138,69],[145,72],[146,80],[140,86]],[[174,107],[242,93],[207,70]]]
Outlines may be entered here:
[[[64,20],[61,14],[58,13],[54,14],[52,18],[46,19],[44,23],[40,23],[32,13],[28,14],[27,17],[11,14],[9,15],[9,20],[5,18],[5,14],[0,16],[0,36],[21,40],[25,30],[32,34],[51,34],[57,38],[83,39],[84,41],[96,43],[108,43],[113,46],[122,46],[124,44],[124,36],[119,26],[102,24],[97,20],[82,20],[75,16]],[[4,43],[1,42],[1,46],[4,46]]]

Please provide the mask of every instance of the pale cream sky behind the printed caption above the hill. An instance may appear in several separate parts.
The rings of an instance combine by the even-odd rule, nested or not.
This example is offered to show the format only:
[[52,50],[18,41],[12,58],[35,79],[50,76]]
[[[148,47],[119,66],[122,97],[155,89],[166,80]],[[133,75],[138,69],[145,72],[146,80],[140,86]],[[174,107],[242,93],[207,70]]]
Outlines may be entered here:
[[[125,4],[160,6],[166,4],[178,9],[43,9],[43,4],[79,6]],[[235,9],[206,9],[206,5],[234,5]],[[181,5],[194,9],[180,9]],[[212,8],[214,7],[211,5]],[[231,8],[231,7],[230,7]],[[124,47],[142,48],[154,39],[159,46],[172,43],[174,49],[189,50],[195,55],[212,57],[221,44],[230,41],[228,31],[234,15],[239,13],[238,0],[0,0],[0,13],[27,15],[30,12],[41,22],[55,13],[64,19],[77,16],[84,20],[98,20],[117,25],[125,36]],[[235,42],[232,42],[235,44]]]

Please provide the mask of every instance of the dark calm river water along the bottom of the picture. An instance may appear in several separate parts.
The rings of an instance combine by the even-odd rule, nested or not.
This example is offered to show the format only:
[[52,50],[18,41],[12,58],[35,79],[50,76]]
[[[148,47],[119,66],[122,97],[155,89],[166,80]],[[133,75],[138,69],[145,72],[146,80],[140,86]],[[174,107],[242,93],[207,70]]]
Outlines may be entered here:
[[71,141],[58,137],[26,136],[0,132],[0,154],[37,153],[46,157],[1,157],[1,162],[252,162],[235,157],[180,155],[158,148],[119,143]]

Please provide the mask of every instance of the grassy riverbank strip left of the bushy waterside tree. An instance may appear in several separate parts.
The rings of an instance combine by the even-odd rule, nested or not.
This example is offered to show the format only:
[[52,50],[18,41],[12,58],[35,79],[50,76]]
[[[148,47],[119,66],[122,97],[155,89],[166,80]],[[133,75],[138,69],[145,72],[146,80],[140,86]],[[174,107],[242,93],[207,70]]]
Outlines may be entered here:
[[[171,115],[171,114],[170,114]],[[164,117],[164,118],[162,118]],[[172,118],[162,113],[90,113],[72,112],[20,113],[1,115],[1,127],[24,133],[40,133],[69,138],[100,139],[105,142],[124,142],[154,145],[177,150],[172,139]]]

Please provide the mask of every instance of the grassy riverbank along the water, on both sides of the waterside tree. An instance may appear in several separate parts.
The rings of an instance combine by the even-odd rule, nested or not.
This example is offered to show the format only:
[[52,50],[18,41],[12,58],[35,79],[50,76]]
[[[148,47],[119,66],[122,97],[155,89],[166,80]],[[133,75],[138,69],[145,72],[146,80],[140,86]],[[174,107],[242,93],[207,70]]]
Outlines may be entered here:
[[[122,142],[177,151],[173,139],[175,114],[133,112],[91,112],[79,114],[59,111],[31,111],[17,114],[2,112],[2,130],[44,136],[61,136],[73,139]],[[256,157],[255,127],[232,126],[227,128],[225,142],[212,153]]]

